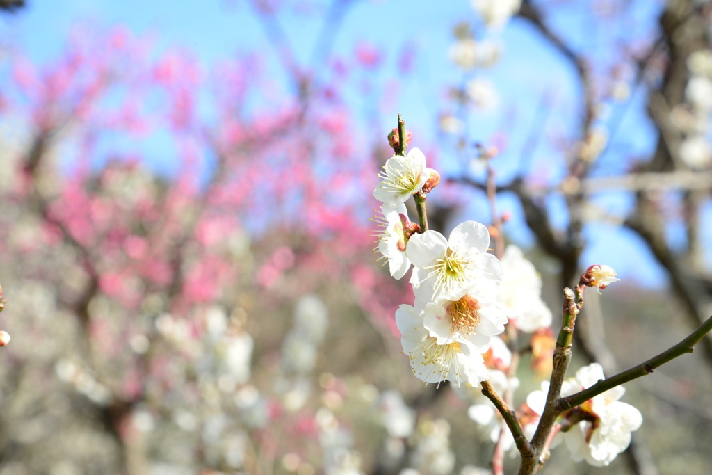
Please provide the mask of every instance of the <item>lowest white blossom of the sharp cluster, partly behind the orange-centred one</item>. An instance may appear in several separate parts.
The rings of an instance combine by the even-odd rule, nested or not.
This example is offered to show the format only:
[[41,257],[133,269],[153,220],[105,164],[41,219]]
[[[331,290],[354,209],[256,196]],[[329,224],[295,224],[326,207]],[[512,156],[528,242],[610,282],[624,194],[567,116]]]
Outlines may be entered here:
[[413,374],[424,382],[444,380],[459,386],[478,385],[488,377],[482,354],[467,340],[439,345],[423,326],[423,310],[403,304],[396,310],[403,353],[408,355]]

